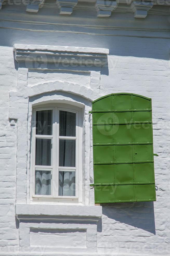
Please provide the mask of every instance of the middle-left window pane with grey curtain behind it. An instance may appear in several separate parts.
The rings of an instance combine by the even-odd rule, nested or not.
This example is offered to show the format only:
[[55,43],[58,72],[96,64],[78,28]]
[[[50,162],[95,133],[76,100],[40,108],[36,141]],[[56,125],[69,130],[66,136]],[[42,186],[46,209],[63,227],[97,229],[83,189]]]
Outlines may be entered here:
[[35,165],[51,165],[51,139],[36,138]]

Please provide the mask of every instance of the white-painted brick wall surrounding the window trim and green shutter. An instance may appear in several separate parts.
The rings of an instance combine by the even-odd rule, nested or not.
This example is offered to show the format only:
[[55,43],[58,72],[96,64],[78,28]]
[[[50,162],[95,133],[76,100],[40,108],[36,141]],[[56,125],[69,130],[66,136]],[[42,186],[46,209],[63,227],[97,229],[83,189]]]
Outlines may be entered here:
[[[16,13],[18,19],[22,19],[22,14]],[[12,20],[12,14],[9,18],[7,14],[6,19]],[[116,16],[118,20],[119,15]],[[27,19],[31,21],[37,17],[29,15]],[[16,20],[16,17],[14,18]],[[61,17],[65,24],[70,22],[70,19],[73,23],[77,22],[74,33],[66,32],[67,25],[62,28],[58,26],[59,32],[57,32],[52,23],[60,17],[50,16],[48,12],[47,16],[41,14],[39,19],[50,21],[48,30],[51,28],[53,31],[48,32],[45,27],[40,31],[34,31],[35,27],[32,28],[31,23],[24,25],[20,22],[18,25],[14,21],[6,22],[6,28],[0,29],[0,255],[5,255],[5,252],[8,255],[17,255],[19,245],[18,220],[15,219],[17,127],[11,126],[8,120],[9,91],[16,91],[17,84],[18,63],[14,63],[12,51],[14,43],[109,48],[109,67],[101,69],[100,94],[133,92],[152,98],[154,153],[159,154],[159,157],[154,157],[157,201],[103,204],[102,220],[98,222],[97,229],[97,248],[99,255],[108,256],[169,255],[169,35],[166,31],[157,31],[156,36],[155,32],[149,31],[149,28],[152,29],[148,25],[152,15],[150,20],[148,18],[138,22],[138,28],[148,26],[146,37],[143,36],[143,32],[140,37],[139,31],[135,32],[134,29],[123,30],[124,36],[119,36],[117,30],[114,30],[112,17],[109,19],[112,28],[109,32],[107,29],[106,32],[102,30],[101,35],[97,26],[102,26],[103,20],[99,21],[98,18],[95,18],[97,25],[95,27],[93,24],[91,34],[88,33],[90,31],[88,25],[86,28],[81,25],[81,16],[79,19],[74,16]],[[121,22],[120,26],[123,27],[128,19]],[[133,27],[135,21],[129,22],[132,22]],[[22,30],[9,29],[15,26],[20,26]],[[107,24],[104,23],[104,26]],[[5,27],[4,21],[3,27]],[[23,30],[24,28],[26,30]],[[63,28],[66,29],[65,32]],[[117,35],[107,35],[107,33],[117,33]],[[22,86],[20,78],[19,84]],[[25,167],[21,166],[21,168]]]

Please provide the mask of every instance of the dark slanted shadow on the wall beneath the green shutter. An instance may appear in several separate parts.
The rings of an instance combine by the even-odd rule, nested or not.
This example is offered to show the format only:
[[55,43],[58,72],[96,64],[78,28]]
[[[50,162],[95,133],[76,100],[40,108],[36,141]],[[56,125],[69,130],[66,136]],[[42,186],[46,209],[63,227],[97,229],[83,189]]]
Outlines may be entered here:
[[[138,229],[143,229],[155,235],[153,202],[105,203],[101,204],[101,206],[102,214],[105,217],[118,223],[125,223]],[[97,224],[97,231],[102,232],[102,219]]]

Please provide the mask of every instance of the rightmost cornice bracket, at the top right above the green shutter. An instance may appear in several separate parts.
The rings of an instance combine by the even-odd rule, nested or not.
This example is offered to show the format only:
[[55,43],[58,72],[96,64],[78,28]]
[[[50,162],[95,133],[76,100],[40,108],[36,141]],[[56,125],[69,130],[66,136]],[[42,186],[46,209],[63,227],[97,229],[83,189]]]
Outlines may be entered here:
[[134,12],[134,18],[146,18],[148,11],[153,7],[149,1],[133,1],[130,5]]

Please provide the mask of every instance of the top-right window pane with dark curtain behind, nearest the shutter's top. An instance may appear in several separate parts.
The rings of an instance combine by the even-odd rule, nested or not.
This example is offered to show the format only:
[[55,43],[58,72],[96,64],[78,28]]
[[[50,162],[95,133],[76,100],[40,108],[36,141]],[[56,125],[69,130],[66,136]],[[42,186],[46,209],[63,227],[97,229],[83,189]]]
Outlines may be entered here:
[[76,113],[60,110],[59,135],[76,136]]

